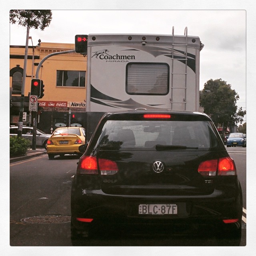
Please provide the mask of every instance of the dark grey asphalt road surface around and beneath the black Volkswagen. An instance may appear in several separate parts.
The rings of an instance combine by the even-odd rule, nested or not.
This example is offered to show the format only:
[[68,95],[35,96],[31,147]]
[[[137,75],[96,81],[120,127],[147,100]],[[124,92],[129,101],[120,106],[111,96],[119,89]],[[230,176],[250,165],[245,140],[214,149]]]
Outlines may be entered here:
[[[245,246],[246,148],[228,148],[240,179],[244,218],[242,240],[218,239],[200,234],[137,234],[116,232],[92,239],[83,246]],[[70,239],[70,189],[77,156],[42,155],[10,164],[10,246],[72,246]],[[156,230],[154,230],[156,231]]]

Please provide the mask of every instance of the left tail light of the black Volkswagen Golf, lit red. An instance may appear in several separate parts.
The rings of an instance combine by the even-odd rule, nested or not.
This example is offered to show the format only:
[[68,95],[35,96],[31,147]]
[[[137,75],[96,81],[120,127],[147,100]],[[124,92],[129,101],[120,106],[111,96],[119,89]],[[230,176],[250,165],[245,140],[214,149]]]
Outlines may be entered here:
[[77,173],[79,174],[98,174],[113,175],[118,172],[116,162],[108,159],[99,158],[97,162],[96,156],[82,156],[78,163]]

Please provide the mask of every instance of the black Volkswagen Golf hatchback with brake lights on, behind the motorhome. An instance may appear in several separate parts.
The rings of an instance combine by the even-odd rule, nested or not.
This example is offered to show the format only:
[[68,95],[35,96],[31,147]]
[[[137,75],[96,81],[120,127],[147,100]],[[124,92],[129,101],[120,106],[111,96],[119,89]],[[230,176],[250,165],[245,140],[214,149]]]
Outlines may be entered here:
[[207,115],[113,112],[102,117],[78,162],[71,212],[72,238],[113,226],[159,232],[209,225],[240,236],[242,190]]

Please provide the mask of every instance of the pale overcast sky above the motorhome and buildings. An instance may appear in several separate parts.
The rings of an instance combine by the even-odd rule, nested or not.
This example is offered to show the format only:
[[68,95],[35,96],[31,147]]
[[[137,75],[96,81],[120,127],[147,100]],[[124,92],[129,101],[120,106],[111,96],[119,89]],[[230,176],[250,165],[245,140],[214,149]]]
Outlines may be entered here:
[[[245,10],[52,10],[44,31],[30,29],[34,45],[42,42],[74,43],[76,34],[136,33],[199,36],[200,90],[209,79],[231,84],[246,110]],[[26,44],[26,28],[10,25],[10,45]],[[29,40],[29,45],[32,45]],[[244,120],[246,121],[246,120]]]

